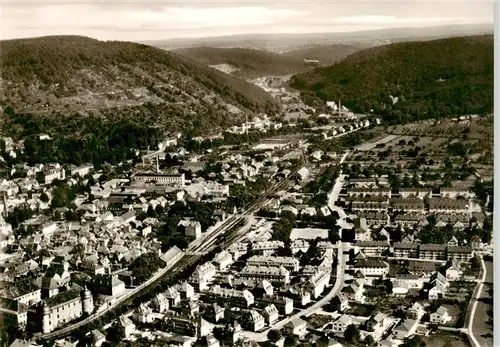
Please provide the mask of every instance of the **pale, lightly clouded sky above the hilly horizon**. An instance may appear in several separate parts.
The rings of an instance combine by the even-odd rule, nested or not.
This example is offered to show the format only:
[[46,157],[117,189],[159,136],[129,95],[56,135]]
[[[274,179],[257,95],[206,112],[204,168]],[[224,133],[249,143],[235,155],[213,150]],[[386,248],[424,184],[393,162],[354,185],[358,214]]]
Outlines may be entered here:
[[493,0],[3,0],[2,39],[84,35],[149,41],[493,23]]

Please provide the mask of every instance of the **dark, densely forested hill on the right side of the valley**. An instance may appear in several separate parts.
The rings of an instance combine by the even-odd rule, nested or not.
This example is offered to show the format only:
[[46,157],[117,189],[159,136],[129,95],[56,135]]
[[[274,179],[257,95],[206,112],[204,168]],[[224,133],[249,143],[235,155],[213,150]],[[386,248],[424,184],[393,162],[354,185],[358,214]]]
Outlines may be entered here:
[[341,99],[392,122],[491,113],[493,36],[373,47],[296,75],[291,85],[308,103]]

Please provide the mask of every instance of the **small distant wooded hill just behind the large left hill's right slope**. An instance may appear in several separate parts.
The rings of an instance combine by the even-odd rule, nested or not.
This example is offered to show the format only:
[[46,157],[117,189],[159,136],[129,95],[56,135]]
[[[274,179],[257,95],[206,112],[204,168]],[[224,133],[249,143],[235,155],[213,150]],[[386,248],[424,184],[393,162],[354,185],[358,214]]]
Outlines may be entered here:
[[192,47],[173,52],[206,65],[227,64],[231,73],[245,78],[293,75],[310,70],[304,59],[247,48]]

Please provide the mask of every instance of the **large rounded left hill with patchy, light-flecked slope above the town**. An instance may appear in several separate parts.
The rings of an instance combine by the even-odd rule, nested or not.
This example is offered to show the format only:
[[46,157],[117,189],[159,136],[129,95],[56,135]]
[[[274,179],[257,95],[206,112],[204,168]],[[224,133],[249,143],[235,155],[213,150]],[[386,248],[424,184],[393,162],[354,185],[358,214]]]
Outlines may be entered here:
[[1,104],[18,114],[94,115],[205,132],[246,112],[279,110],[255,85],[143,44],[47,36],[0,41],[0,48]]

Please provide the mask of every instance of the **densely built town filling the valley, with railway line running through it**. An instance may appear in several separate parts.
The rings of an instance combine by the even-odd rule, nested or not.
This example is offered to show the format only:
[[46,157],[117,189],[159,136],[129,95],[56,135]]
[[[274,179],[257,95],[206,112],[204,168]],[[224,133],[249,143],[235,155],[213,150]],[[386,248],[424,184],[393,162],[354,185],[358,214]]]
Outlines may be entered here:
[[117,167],[28,165],[3,139],[11,346],[482,345],[469,301],[492,276],[488,172],[443,151],[488,119],[430,135],[255,83],[280,119],[173,134]]

